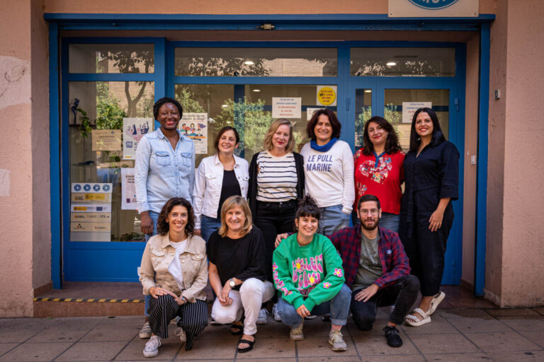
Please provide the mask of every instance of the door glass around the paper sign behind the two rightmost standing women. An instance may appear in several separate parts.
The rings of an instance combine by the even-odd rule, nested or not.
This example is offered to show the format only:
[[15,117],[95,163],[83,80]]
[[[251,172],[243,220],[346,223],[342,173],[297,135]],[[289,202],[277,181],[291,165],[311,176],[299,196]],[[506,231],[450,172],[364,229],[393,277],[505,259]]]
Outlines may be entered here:
[[385,90],[385,108],[384,117],[397,130],[400,146],[404,151],[409,150],[410,146],[410,127],[412,119],[409,122],[402,122],[402,103],[403,102],[430,102],[432,109],[438,116],[438,121],[442,128],[442,133],[448,139],[449,128],[449,89],[386,89]]

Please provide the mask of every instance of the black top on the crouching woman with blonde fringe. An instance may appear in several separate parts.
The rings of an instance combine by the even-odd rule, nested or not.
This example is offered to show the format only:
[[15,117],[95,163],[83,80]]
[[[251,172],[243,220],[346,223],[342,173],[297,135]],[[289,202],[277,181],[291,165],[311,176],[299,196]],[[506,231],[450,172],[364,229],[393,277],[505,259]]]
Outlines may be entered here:
[[264,249],[263,233],[256,226],[239,239],[222,237],[215,230],[208,240],[208,259],[217,267],[222,285],[231,278],[263,281],[266,279]]

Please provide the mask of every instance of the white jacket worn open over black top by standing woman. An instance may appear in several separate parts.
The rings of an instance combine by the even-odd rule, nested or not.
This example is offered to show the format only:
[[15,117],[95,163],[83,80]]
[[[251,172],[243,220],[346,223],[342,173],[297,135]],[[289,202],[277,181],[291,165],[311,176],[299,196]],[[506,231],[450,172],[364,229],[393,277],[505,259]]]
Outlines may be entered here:
[[[224,170],[217,153],[204,158],[196,170],[195,187],[193,189],[196,229],[200,229],[200,218],[202,215],[217,218]],[[244,158],[234,156],[234,175],[236,175],[238,184],[240,185],[241,196],[245,199],[249,183],[249,164]]]

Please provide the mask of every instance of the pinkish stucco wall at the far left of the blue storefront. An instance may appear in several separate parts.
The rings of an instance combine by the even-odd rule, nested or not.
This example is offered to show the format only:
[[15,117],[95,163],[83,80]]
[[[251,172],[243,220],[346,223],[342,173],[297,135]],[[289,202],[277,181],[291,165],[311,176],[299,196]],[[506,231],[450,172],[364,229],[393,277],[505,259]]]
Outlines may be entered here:
[[[47,27],[42,1],[0,12],[0,317],[31,316],[51,280]],[[31,25],[32,24],[32,25]]]

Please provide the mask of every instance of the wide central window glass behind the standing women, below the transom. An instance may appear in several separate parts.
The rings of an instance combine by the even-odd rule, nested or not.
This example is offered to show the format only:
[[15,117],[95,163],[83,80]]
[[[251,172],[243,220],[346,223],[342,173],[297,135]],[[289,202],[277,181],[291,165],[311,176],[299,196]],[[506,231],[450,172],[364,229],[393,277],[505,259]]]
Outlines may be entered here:
[[[275,119],[272,117],[272,98],[301,98],[300,118],[289,118],[294,124],[295,151],[300,151],[308,141],[308,117],[317,108],[323,108],[317,105],[317,89],[315,85],[176,84],[176,99],[183,105],[183,114],[206,113],[205,117],[208,117],[207,153],[197,155],[197,167],[200,160],[215,153],[215,137],[225,126],[235,127],[240,134],[240,146],[236,151],[239,156],[249,161],[254,153],[262,151],[264,136]],[[336,106],[328,108],[336,112]],[[183,121],[180,125],[183,127]],[[188,122],[186,127],[194,128]]]

